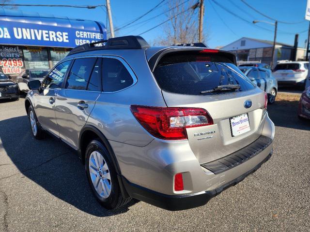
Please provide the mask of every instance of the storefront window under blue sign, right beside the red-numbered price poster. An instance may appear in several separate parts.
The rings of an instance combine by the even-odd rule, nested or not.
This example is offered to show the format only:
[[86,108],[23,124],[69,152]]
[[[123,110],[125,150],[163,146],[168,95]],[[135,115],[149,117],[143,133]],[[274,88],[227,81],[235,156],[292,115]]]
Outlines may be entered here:
[[47,49],[33,47],[23,49],[26,69],[49,69]]

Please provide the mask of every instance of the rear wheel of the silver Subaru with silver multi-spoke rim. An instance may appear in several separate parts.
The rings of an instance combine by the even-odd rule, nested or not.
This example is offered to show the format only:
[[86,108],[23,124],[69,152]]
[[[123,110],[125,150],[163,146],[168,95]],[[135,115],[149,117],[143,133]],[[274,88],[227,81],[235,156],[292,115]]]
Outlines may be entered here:
[[122,197],[110,154],[99,140],[91,141],[86,148],[85,170],[93,194],[103,207],[116,209],[131,201]]

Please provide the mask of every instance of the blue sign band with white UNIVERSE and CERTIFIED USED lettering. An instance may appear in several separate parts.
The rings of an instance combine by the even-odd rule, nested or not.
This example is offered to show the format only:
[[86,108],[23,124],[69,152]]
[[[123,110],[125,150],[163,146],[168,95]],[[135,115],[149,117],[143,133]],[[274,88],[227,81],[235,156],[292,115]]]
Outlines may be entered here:
[[0,44],[76,47],[106,39],[107,30],[99,24],[97,28],[86,30],[0,20]]

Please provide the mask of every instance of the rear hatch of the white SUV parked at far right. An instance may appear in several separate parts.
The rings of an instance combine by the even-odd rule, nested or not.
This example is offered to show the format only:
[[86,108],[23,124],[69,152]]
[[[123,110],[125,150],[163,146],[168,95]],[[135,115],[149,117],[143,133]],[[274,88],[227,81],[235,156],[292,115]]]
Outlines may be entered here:
[[306,70],[301,69],[301,64],[299,63],[282,63],[277,64],[273,75],[278,80],[292,80],[300,78],[304,72],[306,72]]

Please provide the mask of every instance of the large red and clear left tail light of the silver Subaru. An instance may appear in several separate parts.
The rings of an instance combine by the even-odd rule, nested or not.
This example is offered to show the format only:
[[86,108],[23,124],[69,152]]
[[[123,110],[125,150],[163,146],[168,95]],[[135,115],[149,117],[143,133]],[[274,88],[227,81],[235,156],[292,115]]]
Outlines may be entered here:
[[187,139],[186,128],[213,124],[202,108],[131,105],[130,109],[142,127],[159,139]]

